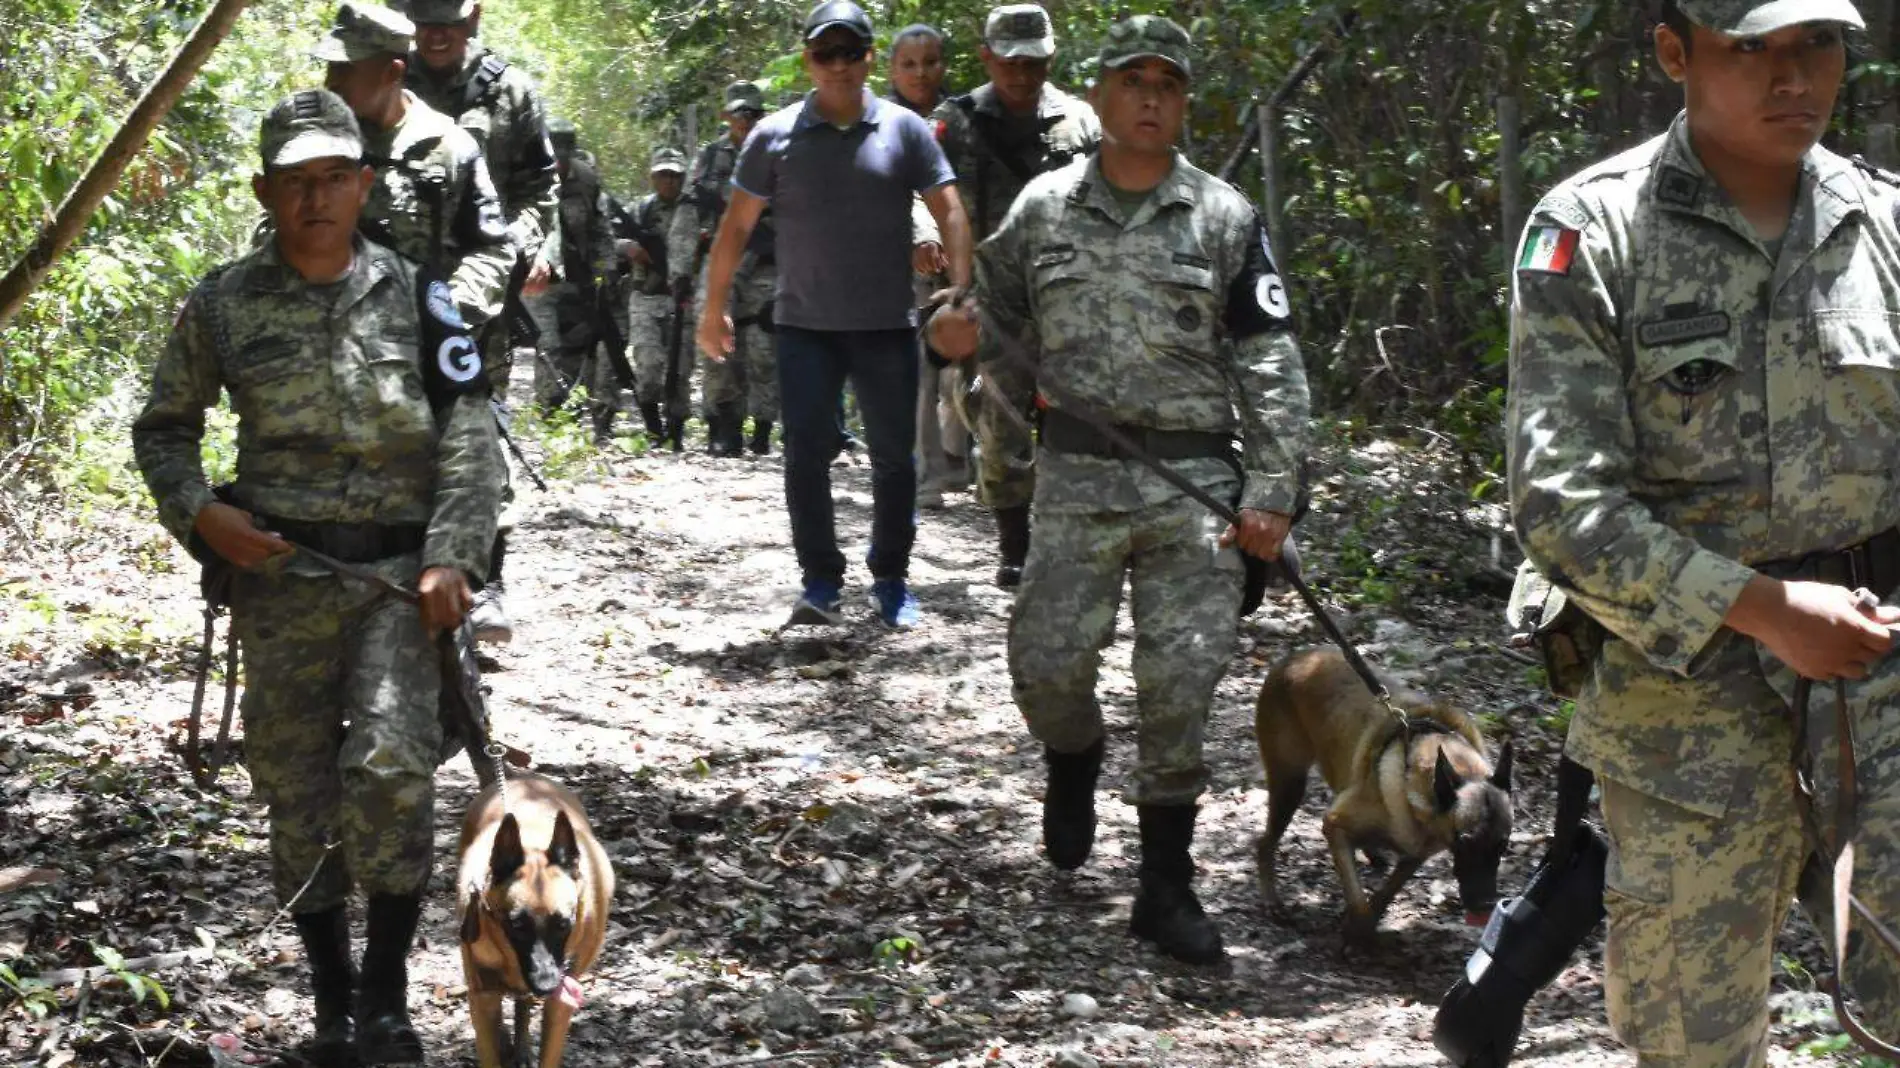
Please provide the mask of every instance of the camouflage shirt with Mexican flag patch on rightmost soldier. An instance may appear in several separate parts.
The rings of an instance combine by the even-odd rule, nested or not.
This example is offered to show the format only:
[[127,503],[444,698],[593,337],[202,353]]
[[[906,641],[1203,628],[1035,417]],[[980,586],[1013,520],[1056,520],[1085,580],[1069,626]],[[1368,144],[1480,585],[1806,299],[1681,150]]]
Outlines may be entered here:
[[1526,555],[1613,635],[1569,732],[1611,779],[1721,813],[1775,720],[1752,694],[1786,682],[1721,623],[1752,564],[1900,521],[1896,194],[1816,146],[1767,245],[1678,118],[1531,215],[1510,511]]

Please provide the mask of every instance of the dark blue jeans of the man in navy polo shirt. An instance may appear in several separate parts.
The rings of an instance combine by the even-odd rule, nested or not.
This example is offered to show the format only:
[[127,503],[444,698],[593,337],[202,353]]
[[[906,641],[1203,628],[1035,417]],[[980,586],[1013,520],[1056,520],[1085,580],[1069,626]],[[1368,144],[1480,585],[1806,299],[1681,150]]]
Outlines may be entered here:
[[838,391],[849,376],[870,447],[870,574],[904,578],[918,538],[918,333],[808,331],[779,325],[779,407],[785,420],[785,509],[804,582],[844,585],[830,496],[838,456]]

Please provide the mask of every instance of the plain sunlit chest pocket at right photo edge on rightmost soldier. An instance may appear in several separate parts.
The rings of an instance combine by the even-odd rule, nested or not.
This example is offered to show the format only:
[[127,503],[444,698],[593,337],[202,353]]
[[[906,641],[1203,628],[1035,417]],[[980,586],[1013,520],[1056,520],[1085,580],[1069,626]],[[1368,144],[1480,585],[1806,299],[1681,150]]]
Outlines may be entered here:
[[1828,393],[1828,450],[1835,471],[1887,475],[1900,441],[1900,340],[1881,310],[1814,312]]

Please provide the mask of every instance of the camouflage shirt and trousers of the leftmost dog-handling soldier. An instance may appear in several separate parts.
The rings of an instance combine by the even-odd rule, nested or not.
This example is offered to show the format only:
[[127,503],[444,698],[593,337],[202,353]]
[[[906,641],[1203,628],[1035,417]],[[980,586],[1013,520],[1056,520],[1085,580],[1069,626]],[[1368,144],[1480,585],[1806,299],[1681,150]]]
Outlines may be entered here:
[[[276,241],[207,277],[133,424],[165,528],[188,540],[211,502],[205,409],[230,391],[245,509],[279,530],[407,530],[418,551],[369,566],[401,583],[433,566],[481,582],[502,485],[494,420],[479,391],[431,409],[416,285],[414,264],[361,238],[336,285],[306,283]],[[342,905],[352,882],[414,893],[429,874],[441,743],[439,659],[416,606],[294,555],[239,574],[232,601],[279,901],[312,872],[306,912]],[[340,848],[319,870],[329,842]]]

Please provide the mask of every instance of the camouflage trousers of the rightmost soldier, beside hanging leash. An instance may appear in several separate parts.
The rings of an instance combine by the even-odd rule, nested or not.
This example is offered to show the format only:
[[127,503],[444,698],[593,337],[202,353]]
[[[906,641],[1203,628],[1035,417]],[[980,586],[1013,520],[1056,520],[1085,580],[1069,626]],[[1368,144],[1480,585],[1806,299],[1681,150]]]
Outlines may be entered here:
[[[1832,811],[1832,711],[1816,684],[1813,716],[1822,819]],[[1744,715],[1778,715],[1773,703]],[[1858,726],[1860,830],[1854,893],[1875,916],[1900,920],[1900,724],[1892,709],[1862,707]],[[1778,724],[1776,724],[1778,726]],[[1794,808],[1788,732],[1763,732],[1758,768],[1744,772],[1721,817],[1604,781],[1611,838],[1606,905],[1609,939],[1604,1000],[1617,1038],[1640,1068],[1754,1068],[1765,1062],[1775,935],[1807,857]],[[1832,832],[1832,829],[1830,829]],[[1828,931],[1824,886],[1801,880],[1801,906]],[[1858,925],[1858,922],[1856,922]],[[1854,935],[1849,992],[1862,1020],[1900,1036],[1900,962]]]

